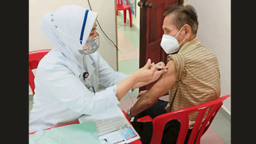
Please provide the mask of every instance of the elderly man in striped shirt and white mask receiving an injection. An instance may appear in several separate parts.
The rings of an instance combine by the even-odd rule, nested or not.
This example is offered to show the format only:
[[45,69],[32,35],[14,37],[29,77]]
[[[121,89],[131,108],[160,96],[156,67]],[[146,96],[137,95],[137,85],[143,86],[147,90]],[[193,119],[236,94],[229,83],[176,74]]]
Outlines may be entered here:
[[[165,9],[163,16],[161,47],[169,54],[166,65],[168,71],[161,75],[150,90],[140,92],[135,105],[127,111],[130,118],[135,117],[132,124],[142,143],[150,143],[152,122],[137,122],[138,118],[146,115],[154,118],[170,111],[199,105],[217,99],[221,94],[217,58],[196,37],[196,10],[190,5],[170,6]],[[159,99],[168,91],[169,101]],[[185,143],[196,120],[196,113],[190,115],[189,120],[190,129]],[[161,142],[176,143],[179,126],[178,120],[169,121],[165,125]]]

